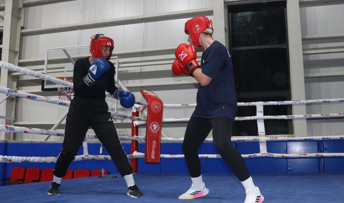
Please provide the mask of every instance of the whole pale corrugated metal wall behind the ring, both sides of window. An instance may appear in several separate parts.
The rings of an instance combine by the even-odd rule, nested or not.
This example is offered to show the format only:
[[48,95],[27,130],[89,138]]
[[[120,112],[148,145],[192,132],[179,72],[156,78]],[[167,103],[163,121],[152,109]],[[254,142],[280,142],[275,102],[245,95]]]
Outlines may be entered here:
[[[239,1],[239,0],[233,0]],[[253,1],[252,1],[253,2]],[[261,2],[261,1],[257,1]],[[64,26],[66,24],[87,23],[100,20],[128,18],[140,15],[187,11],[192,9],[212,8],[213,0],[75,0],[27,7],[24,10],[23,26],[25,29],[40,29],[42,27]],[[0,12],[1,15],[1,12]],[[313,35],[342,36],[344,33],[344,2],[326,4],[303,4],[300,6],[301,31],[303,38]],[[213,18],[213,16],[209,16]],[[46,48],[87,45],[90,35],[104,33],[115,41],[116,53],[133,52],[144,49],[173,48],[187,42],[184,34],[184,23],[189,18],[164,19],[135,24],[116,25],[101,28],[82,29],[76,31],[56,32],[21,37],[19,65],[35,70],[42,70],[41,63]],[[0,20],[1,26],[2,20]],[[216,23],[216,22],[215,22]],[[216,33],[216,30],[215,30]],[[335,44],[335,45],[334,45]],[[343,46],[341,37],[334,40],[303,40],[303,48]],[[201,55],[199,52],[198,56]],[[120,66],[128,61],[172,59],[169,52],[159,54],[136,54],[119,57]],[[304,74],[306,99],[330,99],[344,97],[344,53],[304,54]],[[171,60],[171,64],[172,64]],[[15,75],[11,77],[17,77]],[[39,95],[56,97],[57,92],[40,92],[41,80],[31,76],[18,76],[18,89]],[[137,100],[143,100],[139,90],[154,91],[164,103],[195,103],[196,85],[194,79],[187,76],[174,76],[171,65],[152,65],[125,67],[119,70],[119,79],[127,84]],[[171,85],[166,82],[191,82],[190,84]],[[57,97],[56,97],[57,98]],[[297,98],[294,98],[297,99]],[[114,102],[108,100],[110,110],[114,110]],[[313,104],[307,105],[307,113],[343,112],[343,104]],[[17,99],[16,122],[19,126],[50,128],[65,112],[63,106]],[[190,117],[192,109],[164,110],[164,118]],[[130,114],[130,110],[119,109],[121,113]],[[295,113],[297,114],[297,113]],[[308,134],[311,135],[340,135],[343,134],[344,119],[311,120],[307,122]],[[38,125],[37,125],[38,124]],[[119,134],[130,134],[130,123],[118,121],[115,123]],[[164,131],[171,137],[183,137],[185,123],[164,124]],[[63,127],[63,126],[62,126]],[[92,132],[92,130],[90,130]],[[145,130],[141,127],[140,134]],[[42,135],[18,134],[16,139],[42,140]],[[51,137],[49,140],[60,140]]]

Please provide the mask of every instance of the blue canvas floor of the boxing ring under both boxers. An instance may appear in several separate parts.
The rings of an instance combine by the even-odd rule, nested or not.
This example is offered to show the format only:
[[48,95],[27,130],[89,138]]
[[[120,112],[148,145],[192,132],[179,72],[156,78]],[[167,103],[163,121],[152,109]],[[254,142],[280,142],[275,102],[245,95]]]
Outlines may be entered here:
[[[116,178],[111,178],[117,176]],[[194,200],[179,200],[189,189],[188,174],[134,174],[143,198],[127,196],[127,185],[119,174],[63,180],[60,195],[48,195],[51,182],[0,187],[0,202],[206,202],[243,203],[245,191],[233,174],[203,174],[209,194]],[[344,173],[252,174],[264,195],[264,203],[343,203]]]

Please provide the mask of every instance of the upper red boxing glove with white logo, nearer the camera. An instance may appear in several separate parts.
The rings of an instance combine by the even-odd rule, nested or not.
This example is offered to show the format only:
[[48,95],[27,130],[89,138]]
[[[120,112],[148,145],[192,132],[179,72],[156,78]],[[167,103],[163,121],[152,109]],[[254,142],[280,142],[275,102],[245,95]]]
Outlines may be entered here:
[[193,71],[195,71],[197,68],[200,68],[200,65],[198,65],[196,61],[196,50],[192,44],[187,45],[183,43],[179,45],[175,49],[174,55],[178,59],[178,61],[186,68],[191,76]]

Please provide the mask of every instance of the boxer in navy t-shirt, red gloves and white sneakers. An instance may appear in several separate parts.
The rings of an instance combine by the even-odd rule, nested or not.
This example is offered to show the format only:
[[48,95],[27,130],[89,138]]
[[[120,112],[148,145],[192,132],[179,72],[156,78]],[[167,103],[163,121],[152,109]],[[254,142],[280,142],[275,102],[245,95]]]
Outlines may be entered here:
[[[172,72],[176,75],[190,75],[199,84],[197,106],[187,124],[183,142],[192,185],[179,199],[194,199],[209,193],[202,180],[197,150],[213,130],[215,148],[245,188],[245,203],[262,203],[263,195],[253,183],[243,157],[231,143],[237,112],[232,58],[226,47],[213,39],[213,23],[207,17],[198,16],[188,20],[184,31],[189,35],[187,41],[191,44],[181,44],[176,48],[177,59],[172,65]],[[196,61],[194,46],[204,50],[201,65]],[[225,196],[229,198],[230,192]]]

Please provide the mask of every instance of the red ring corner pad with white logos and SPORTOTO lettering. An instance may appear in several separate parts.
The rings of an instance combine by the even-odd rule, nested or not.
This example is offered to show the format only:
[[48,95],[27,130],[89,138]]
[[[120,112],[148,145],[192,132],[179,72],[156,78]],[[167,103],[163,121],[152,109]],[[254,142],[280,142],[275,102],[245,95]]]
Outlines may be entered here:
[[141,90],[141,93],[148,103],[144,162],[160,163],[160,138],[163,103],[161,99],[154,94],[154,92]]

